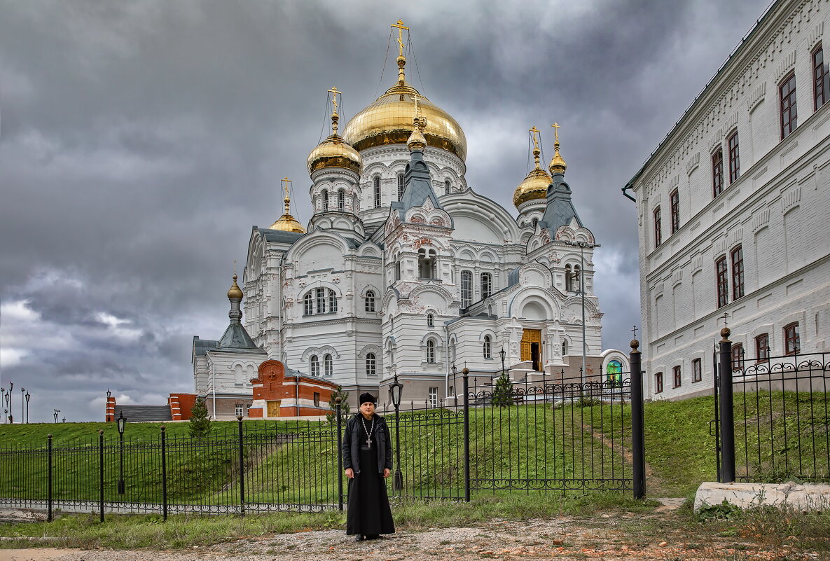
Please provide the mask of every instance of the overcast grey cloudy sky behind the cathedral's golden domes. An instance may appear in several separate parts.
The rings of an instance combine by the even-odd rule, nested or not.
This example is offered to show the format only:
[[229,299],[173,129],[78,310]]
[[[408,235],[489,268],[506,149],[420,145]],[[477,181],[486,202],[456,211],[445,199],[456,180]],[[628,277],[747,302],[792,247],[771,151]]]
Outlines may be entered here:
[[[603,344],[640,323],[634,204],[620,194],[768,0],[0,0],[0,368],[32,422],[100,420],[193,391],[194,334],[227,326],[251,226],[310,217],[305,159],[396,78],[468,141],[467,183],[515,214],[527,129],[562,125],[574,204],[602,244]],[[394,41],[393,41],[394,42]],[[414,60],[413,60],[414,55]],[[416,68],[417,63],[417,68]]]

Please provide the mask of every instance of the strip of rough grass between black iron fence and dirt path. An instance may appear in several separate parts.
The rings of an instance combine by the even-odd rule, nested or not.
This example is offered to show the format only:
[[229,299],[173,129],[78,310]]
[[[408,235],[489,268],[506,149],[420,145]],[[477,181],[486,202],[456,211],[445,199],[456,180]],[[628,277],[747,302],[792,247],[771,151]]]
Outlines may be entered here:
[[[478,524],[488,520],[526,520],[561,515],[588,516],[608,510],[650,512],[656,503],[635,501],[618,493],[550,494],[481,497],[470,503],[410,501],[393,509],[398,530],[422,530]],[[0,548],[83,547],[169,549],[217,544],[267,534],[310,529],[344,529],[345,513],[281,513],[270,515],[60,515],[51,523],[0,524]]]

